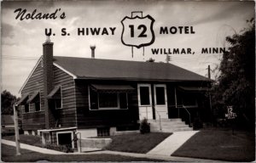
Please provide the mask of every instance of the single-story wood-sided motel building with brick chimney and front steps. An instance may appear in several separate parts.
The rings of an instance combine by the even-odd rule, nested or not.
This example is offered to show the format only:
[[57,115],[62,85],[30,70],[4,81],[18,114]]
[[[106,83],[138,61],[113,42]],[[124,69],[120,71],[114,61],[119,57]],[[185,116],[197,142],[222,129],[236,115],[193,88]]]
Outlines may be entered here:
[[211,81],[204,76],[166,63],[95,59],[95,47],[90,59],[54,56],[53,48],[44,42],[18,102],[25,134],[40,135],[44,144],[76,149],[75,138],[137,131],[144,118],[151,132],[209,121]]

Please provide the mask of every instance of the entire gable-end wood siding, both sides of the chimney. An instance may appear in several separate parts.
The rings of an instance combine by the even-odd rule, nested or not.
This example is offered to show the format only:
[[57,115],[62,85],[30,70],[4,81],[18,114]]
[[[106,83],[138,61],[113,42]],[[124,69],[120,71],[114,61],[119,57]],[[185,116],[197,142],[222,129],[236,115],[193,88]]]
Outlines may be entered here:
[[[53,87],[61,85],[62,90],[62,109],[55,110],[54,103],[49,103],[49,109],[53,112],[53,126],[76,126],[76,102],[74,93],[73,77],[69,76],[63,70],[53,67],[54,82]],[[34,92],[40,92],[41,111],[35,112],[34,104],[30,104],[29,113],[24,113],[24,106],[20,106],[22,110],[22,128],[23,130],[38,130],[45,128],[44,120],[44,76],[41,62],[38,64],[32,76],[26,82],[25,87],[21,91],[24,96],[29,93],[31,96]]]

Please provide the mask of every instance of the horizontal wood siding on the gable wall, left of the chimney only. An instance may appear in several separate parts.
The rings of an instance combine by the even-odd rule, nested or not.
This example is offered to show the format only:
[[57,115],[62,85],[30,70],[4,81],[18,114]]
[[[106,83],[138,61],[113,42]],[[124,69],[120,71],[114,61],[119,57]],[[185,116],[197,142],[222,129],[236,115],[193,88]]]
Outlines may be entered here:
[[41,62],[38,64],[32,76],[26,82],[26,85],[21,91],[21,96],[28,93],[32,96],[36,91],[40,92],[41,111],[35,112],[34,104],[29,104],[29,113],[24,113],[24,106],[21,105],[22,110],[22,128],[23,130],[38,130],[44,128],[44,80],[43,67]]

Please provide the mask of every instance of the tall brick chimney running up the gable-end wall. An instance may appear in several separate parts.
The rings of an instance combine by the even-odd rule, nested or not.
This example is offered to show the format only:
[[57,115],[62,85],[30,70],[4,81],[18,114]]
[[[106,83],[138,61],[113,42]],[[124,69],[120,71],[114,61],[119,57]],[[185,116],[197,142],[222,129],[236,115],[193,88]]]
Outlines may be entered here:
[[44,65],[44,115],[45,128],[49,129],[51,124],[52,113],[49,110],[49,100],[47,95],[53,88],[53,42],[49,38],[43,43],[43,65]]

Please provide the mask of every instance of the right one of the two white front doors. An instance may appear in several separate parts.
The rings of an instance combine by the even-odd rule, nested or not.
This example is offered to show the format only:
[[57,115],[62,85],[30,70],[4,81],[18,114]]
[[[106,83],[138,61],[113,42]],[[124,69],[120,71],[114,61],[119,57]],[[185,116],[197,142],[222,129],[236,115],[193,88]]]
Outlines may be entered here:
[[155,119],[168,119],[166,84],[154,84]]

